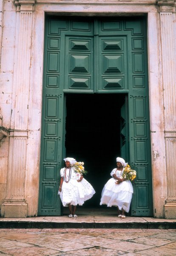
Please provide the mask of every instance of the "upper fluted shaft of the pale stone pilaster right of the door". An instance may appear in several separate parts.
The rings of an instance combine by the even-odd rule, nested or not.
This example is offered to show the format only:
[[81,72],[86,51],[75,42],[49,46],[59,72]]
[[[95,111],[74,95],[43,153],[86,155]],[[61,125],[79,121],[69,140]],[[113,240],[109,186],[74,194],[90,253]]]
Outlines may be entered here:
[[160,13],[162,39],[163,87],[165,104],[165,130],[176,128],[176,69],[171,12]]

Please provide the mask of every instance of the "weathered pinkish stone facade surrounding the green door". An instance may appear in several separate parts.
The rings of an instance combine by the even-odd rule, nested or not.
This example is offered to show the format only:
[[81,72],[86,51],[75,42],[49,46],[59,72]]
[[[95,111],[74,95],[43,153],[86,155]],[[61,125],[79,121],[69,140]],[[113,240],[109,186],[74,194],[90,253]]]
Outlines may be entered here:
[[1,216],[37,215],[45,13],[147,15],[153,212],[176,218],[175,0],[1,0]]

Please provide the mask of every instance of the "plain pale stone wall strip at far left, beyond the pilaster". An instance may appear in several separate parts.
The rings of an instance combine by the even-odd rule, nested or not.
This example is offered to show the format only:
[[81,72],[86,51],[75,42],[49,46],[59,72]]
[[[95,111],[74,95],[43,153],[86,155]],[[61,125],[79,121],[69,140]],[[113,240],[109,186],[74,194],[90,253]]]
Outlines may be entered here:
[[[16,31],[14,1],[1,1],[0,15],[0,113],[3,117],[1,125],[10,129]],[[6,137],[0,142],[0,204],[6,198],[8,159],[9,137]]]

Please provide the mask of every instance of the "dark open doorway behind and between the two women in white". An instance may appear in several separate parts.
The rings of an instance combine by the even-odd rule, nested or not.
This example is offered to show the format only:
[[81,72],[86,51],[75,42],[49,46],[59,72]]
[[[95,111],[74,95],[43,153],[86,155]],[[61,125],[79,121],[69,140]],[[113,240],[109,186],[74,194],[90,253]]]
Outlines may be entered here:
[[66,96],[65,157],[85,163],[96,194],[83,207],[99,207],[103,186],[120,156],[120,118],[125,94]]

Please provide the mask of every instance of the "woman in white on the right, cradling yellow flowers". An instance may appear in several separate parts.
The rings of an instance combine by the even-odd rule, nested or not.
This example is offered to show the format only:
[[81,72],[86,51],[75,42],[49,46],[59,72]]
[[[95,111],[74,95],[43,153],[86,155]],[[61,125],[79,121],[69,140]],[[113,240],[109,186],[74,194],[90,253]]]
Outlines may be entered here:
[[129,212],[133,186],[130,180],[122,177],[124,167],[127,165],[121,157],[116,158],[117,168],[111,172],[112,178],[108,180],[102,190],[100,205],[107,204],[108,207],[116,206],[119,218],[125,218],[125,212]]

